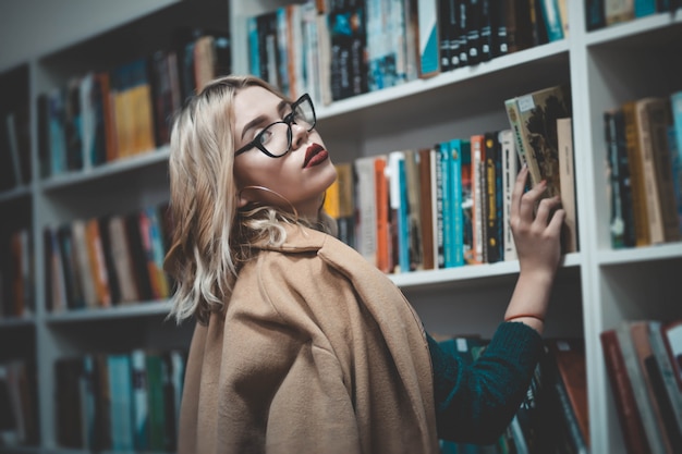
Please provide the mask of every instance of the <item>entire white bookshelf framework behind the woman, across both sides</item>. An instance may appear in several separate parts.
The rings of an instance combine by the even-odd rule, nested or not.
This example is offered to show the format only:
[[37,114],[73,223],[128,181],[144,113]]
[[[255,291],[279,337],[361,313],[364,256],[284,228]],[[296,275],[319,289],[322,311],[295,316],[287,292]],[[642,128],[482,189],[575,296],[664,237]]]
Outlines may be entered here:
[[[89,171],[39,179],[35,112],[38,94],[65,84],[74,74],[112,68],[170,47],[172,30],[181,26],[229,27],[232,68],[235,73],[245,73],[247,17],[287,2],[203,0],[199,8],[196,2],[187,3],[169,0],[157,2],[151,11],[118,11],[112,20],[115,24],[78,36],[70,32],[61,41],[57,39],[59,47],[50,45],[25,63],[0,69],[2,99],[12,94],[32,106],[34,177],[28,185],[0,193],[0,238],[7,236],[5,225],[28,228],[34,244],[35,310],[29,316],[0,320],[0,360],[24,358],[38,365],[40,442],[21,452],[71,452],[60,450],[56,438],[52,365],[57,358],[89,351],[188,345],[190,327],[178,329],[163,322],[168,310],[165,300],[63,314],[47,310],[44,228],[167,200],[168,149],[160,147]],[[682,50],[682,11],[586,32],[584,2],[567,3],[571,24],[568,39],[316,106],[318,128],[334,161],[352,161],[506,128],[504,99],[571,83],[581,248],[562,262],[547,335],[585,339],[592,452],[623,452],[599,333],[624,319],[682,317],[682,309],[672,304],[674,295],[682,293],[682,244],[611,249],[601,115],[631,98],[682,89],[682,62],[675,58]],[[21,89],[13,93],[9,86]],[[11,219],[11,225],[5,219]],[[403,289],[429,331],[489,336],[502,318],[517,272],[517,262],[512,261],[395,274],[391,279]],[[0,446],[0,453],[4,452],[14,450]]]

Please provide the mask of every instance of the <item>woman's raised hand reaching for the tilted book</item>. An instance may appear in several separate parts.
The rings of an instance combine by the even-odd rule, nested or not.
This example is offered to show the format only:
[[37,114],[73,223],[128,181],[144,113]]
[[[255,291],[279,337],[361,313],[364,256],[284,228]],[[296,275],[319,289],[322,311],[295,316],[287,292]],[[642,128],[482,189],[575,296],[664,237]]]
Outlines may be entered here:
[[551,281],[561,258],[560,238],[565,211],[559,208],[559,196],[541,198],[547,188],[544,181],[524,194],[527,177],[528,169],[524,165],[516,177],[511,200],[510,223],[519,265],[522,274]]

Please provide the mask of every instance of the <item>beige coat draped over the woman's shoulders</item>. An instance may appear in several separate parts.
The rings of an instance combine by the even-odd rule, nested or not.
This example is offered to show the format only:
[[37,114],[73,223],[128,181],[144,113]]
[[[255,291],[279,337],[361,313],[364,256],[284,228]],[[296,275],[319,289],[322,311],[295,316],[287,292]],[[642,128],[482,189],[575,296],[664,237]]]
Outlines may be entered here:
[[332,236],[291,228],[196,328],[180,454],[438,452],[428,345],[400,290]]

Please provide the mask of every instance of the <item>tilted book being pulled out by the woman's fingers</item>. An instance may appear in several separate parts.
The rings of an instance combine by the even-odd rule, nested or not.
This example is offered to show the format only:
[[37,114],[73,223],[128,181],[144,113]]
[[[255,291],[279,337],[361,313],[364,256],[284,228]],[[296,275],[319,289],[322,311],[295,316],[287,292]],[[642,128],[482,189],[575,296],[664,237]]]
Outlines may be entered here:
[[557,120],[572,116],[571,87],[568,84],[543,88],[504,101],[516,152],[527,164],[531,183],[545,180],[545,196],[561,193]]

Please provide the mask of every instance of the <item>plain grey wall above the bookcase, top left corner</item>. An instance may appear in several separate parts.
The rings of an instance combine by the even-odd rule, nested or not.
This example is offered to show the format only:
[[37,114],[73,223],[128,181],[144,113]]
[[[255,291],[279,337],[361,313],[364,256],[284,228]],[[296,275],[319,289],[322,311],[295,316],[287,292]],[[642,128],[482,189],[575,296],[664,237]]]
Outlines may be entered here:
[[0,0],[0,72],[178,1]]

